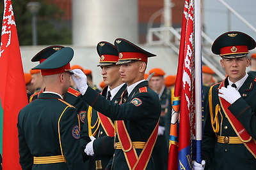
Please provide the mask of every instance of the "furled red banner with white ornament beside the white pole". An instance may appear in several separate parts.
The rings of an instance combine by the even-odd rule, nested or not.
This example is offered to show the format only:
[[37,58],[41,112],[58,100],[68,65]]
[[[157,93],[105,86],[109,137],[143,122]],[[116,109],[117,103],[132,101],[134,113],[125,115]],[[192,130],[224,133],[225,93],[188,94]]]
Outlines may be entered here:
[[[179,138],[179,143],[175,143],[175,140],[170,140],[168,170],[191,169],[189,166],[192,132],[190,123],[193,120],[193,112],[195,110],[193,106],[195,103],[195,97],[193,97],[193,90],[195,90],[193,80],[194,57],[194,1],[186,0],[180,33],[179,63],[173,99],[174,110],[172,112],[172,115],[179,114],[179,116],[176,116],[179,117],[177,118],[179,126],[177,125],[178,121],[172,119],[170,129],[170,138]],[[180,104],[178,105],[179,97]],[[179,127],[179,130],[177,127]],[[177,132],[179,133],[177,134]]]

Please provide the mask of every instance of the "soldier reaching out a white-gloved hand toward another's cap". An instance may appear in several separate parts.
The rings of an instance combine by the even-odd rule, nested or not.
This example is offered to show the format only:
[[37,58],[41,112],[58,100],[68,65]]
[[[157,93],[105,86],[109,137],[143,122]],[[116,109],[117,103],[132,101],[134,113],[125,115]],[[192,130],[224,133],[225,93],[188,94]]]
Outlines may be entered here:
[[156,92],[144,80],[148,57],[156,56],[126,39],[118,38],[115,46],[119,53],[120,76],[127,83],[120,104],[86,85],[86,76],[79,70],[72,75],[83,100],[100,113],[116,121],[115,155],[111,169],[155,169],[151,157],[157,138],[161,104]]

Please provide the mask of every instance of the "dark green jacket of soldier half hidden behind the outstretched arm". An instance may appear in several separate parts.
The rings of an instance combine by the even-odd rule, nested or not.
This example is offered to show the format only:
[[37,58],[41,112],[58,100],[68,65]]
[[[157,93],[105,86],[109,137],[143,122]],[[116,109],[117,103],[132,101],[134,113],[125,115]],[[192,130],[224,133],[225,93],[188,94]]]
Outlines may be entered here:
[[[119,103],[121,99],[122,92],[126,89],[127,85],[124,84],[121,89],[118,90],[116,95],[111,100],[112,103]],[[102,96],[106,97],[108,92],[108,87],[105,87],[102,90]],[[97,122],[98,114],[97,111],[93,109],[91,125],[95,125]],[[114,122],[113,122],[114,124]],[[95,132],[95,129],[92,129],[92,133]],[[115,152],[114,149],[114,137],[109,137],[106,135],[102,125],[99,125],[99,129],[97,129],[97,133],[95,135],[95,141],[93,141],[93,151],[95,155],[93,157],[86,155],[86,159],[90,159],[90,167],[88,169],[95,169],[95,161],[100,160],[102,164],[102,169],[105,169],[109,160],[113,157]],[[84,123],[83,132],[81,134],[81,146],[84,150],[85,146],[91,141],[88,136],[88,121],[87,118]]]

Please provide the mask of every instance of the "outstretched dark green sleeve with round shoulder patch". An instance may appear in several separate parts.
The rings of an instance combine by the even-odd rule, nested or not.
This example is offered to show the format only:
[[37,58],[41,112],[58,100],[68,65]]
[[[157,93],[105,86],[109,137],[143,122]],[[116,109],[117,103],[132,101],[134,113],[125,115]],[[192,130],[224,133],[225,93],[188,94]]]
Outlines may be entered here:
[[[156,95],[156,94],[154,94]],[[134,105],[129,101],[121,105],[113,104],[105,97],[101,96],[98,92],[88,87],[86,93],[83,96],[83,100],[86,101],[95,110],[99,111],[103,115],[111,118],[111,120],[138,120],[140,118],[159,118],[161,112],[161,105],[159,98],[149,94],[148,92],[142,92],[136,94],[132,99],[140,99],[141,104]],[[148,108],[152,110],[148,111]]]

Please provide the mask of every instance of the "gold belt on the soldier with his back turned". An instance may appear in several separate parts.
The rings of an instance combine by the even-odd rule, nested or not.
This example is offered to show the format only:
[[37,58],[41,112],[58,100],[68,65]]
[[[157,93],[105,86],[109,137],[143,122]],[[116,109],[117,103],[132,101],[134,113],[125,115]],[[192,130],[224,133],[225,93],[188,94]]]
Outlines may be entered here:
[[60,162],[66,162],[65,157],[62,155],[49,157],[34,157],[34,164],[54,164]]

